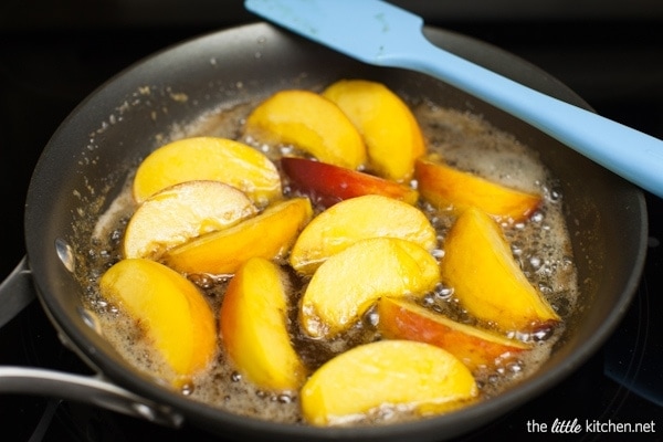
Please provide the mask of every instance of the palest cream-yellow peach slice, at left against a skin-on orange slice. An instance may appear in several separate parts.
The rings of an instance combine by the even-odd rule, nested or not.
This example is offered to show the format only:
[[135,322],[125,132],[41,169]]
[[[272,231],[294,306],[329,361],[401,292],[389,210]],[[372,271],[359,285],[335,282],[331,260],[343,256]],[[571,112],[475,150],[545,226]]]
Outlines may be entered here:
[[181,182],[158,191],[136,209],[125,230],[124,256],[158,259],[168,249],[256,212],[242,191],[223,182]]

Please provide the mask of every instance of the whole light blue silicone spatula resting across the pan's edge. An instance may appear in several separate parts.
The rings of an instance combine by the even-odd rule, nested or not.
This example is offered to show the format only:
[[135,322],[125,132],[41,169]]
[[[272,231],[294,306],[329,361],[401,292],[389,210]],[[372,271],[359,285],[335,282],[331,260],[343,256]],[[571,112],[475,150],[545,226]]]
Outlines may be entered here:
[[663,141],[430,43],[423,19],[380,0],[245,0],[248,10],[365,63],[436,77],[663,198]]

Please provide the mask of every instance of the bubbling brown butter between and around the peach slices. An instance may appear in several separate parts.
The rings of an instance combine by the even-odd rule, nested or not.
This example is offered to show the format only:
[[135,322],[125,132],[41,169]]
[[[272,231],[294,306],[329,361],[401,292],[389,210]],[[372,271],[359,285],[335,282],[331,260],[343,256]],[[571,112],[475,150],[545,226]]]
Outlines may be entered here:
[[[190,127],[178,128],[169,138],[172,140],[188,136],[210,135],[238,139],[240,134],[238,128],[251,108],[252,104],[246,103],[212,113]],[[429,149],[442,154],[451,165],[506,186],[544,196],[540,210],[530,220],[519,224],[505,224],[504,231],[512,244],[514,256],[532,284],[538,287],[564,319],[572,315],[578,287],[569,234],[561,212],[561,194],[556,190],[554,177],[549,176],[537,155],[513,136],[497,130],[478,116],[427,102],[413,107],[413,112]],[[250,139],[240,140],[252,144]],[[277,146],[255,146],[255,148],[272,159],[277,159],[290,149]],[[99,263],[88,278],[92,288],[88,291],[87,302],[98,316],[103,335],[130,364],[148,373],[154,373],[155,379],[160,381],[160,378],[168,378],[168,369],[151,350],[140,328],[115,306],[102,299],[94,288],[101,273],[98,269],[105,269],[120,257],[119,244],[123,230],[135,210],[129,183],[130,177],[125,191],[113,202],[95,227],[95,243],[98,244],[99,250],[95,251],[94,255],[99,256]],[[287,187],[285,191],[288,191]],[[443,239],[453,223],[453,217],[427,204],[421,209],[436,228],[443,248]],[[293,283],[290,312],[292,340],[303,360],[312,369],[346,348],[379,339],[375,330],[376,316],[372,312],[369,312],[350,332],[333,341],[311,340],[299,334],[295,325],[296,309],[305,281],[298,280],[293,272],[290,272],[290,276]],[[203,291],[213,311],[218,313],[228,277],[214,275],[189,275],[189,277]],[[428,295],[425,304],[430,308],[472,323],[472,318],[459,308],[453,295],[444,290]],[[517,361],[499,367],[495,371],[476,373],[482,398],[498,394],[536,372],[548,358],[562,330],[564,323],[549,336],[516,336],[516,338],[534,339],[537,344],[532,351]],[[302,422],[296,391],[270,392],[255,388],[232,367],[221,344],[213,365],[185,386],[181,393],[192,400],[236,414],[277,422]],[[385,408],[375,410],[354,424],[383,424],[408,419],[415,419],[415,417],[408,411]]]

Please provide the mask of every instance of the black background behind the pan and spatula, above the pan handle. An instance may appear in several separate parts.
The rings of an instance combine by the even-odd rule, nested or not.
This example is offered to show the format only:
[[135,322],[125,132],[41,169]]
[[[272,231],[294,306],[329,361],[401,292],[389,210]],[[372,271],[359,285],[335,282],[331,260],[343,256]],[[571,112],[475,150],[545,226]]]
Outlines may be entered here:
[[[430,24],[530,61],[604,116],[663,138],[662,1],[394,3]],[[72,108],[112,75],[157,50],[253,20],[239,0],[0,4],[0,198],[7,214],[0,229],[2,274],[23,255],[22,211],[31,171]]]

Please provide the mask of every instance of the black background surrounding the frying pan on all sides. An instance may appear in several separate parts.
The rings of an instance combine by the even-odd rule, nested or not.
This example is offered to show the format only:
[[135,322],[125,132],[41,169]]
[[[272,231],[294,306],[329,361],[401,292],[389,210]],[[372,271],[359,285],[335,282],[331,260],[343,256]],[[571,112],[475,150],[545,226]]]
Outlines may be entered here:
[[[663,1],[400,0],[394,3],[423,15],[429,24],[519,55],[561,80],[598,113],[663,138]],[[0,281],[24,255],[23,204],[31,172],[51,134],[74,106],[113,75],[155,51],[255,20],[239,0],[3,0],[0,3],[3,207]],[[624,155],[628,149],[624,146]],[[467,440],[523,435],[526,420],[551,423],[550,415],[586,415],[621,422],[655,418],[657,433],[640,434],[635,440],[663,440],[663,323],[660,320],[663,200],[650,193],[645,198],[651,229],[645,273],[614,336],[554,391]],[[9,329],[0,332],[0,361],[22,364],[19,358],[22,354],[28,355],[28,362],[46,359],[44,347],[57,354],[54,359],[59,365],[62,356],[66,360],[71,357],[57,350],[52,327],[34,303],[10,323]],[[8,356],[8,351],[15,351],[17,357]],[[615,379],[621,380],[615,382]],[[634,387],[625,389],[622,387],[625,385]],[[0,402],[0,423],[21,427],[28,436],[41,431],[34,430],[36,422],[44,421],[54,403],[3,397]],[[62,434],[66,434],[66,440],[114,442],[143,441],[145,434],[160,440],[177,440],[182,435],[112,413],[98,413],[90,407],[55,407],[56,418],[45,431],[44,441],[63,440]],[[81,419],[81,414],[87,419]],[[98,432],[91,435],[91,429]],[[182,435],[188,436],[202,440],[199,433]],[[624,440],[621,436],[586,435],[581,440]],[[539,434],[537,440],[545,439]],[[551,440],[569,439],[555,435]]]

